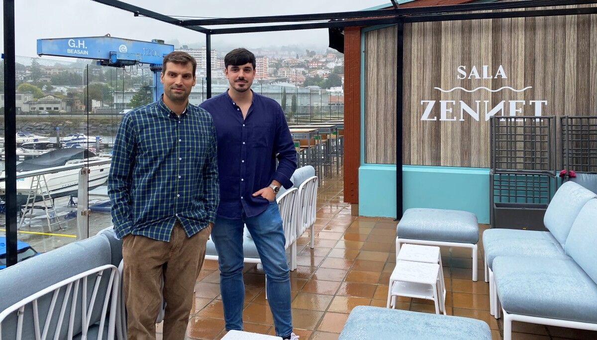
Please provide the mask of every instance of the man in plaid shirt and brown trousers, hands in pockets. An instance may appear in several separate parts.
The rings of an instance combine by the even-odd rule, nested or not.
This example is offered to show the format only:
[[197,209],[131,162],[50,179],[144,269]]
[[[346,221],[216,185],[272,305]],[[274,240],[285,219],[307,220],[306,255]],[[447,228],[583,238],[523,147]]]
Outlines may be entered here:
[[174,51],[163,68],[161,99],[122,117],[108,177],[129,339],[155,339],[162,294],[164,339],[184,339],[219,204],[216,130],[189,103],[195,59]]

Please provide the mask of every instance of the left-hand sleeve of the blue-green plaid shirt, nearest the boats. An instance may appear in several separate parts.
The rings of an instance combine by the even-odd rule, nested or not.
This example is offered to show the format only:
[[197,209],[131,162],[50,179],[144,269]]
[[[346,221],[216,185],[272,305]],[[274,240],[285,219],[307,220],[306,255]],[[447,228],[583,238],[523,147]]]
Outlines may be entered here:
[[136,154],[136,133],[130,114],[122,118],[116,132],[112,164],[108,176],[108,196],[112,204],[112,223],[116,237],[130,234],[133,227],[131,184]]

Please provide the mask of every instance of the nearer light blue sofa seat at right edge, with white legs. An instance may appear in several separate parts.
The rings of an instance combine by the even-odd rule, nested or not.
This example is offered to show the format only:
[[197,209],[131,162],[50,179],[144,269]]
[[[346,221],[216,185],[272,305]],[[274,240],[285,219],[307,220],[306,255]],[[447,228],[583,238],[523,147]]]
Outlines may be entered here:
[[493,260],[504,340],[511,338],[512,321],[597,330],[597,198],[583,204],[566,236],[565,258]]

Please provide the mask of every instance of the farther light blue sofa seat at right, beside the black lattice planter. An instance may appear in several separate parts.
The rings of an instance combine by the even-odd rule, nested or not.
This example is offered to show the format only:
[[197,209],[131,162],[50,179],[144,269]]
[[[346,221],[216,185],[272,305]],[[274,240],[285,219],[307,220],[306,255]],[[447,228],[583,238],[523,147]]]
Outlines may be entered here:
[[[490,283],[490,313],[499,313],[493,280],[493,261],[497,256],[568,259],[564,244],[580,209],[597,194],[574,182],[560,186],[549,203],[543,223],[549,231],[488,229],[483,232],[485,281]],[[497,311],[496,311],[497,310]]]

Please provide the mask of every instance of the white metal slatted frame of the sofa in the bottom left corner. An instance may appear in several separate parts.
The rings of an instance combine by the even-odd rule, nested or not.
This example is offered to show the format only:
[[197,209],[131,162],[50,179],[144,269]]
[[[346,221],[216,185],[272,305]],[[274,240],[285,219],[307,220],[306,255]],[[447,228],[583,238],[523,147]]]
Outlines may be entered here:
[[[64,291],[63,301],[60,308],[60,314],[58,323],[56,325],[56,329],[54,331],[54,339],[58,339],[60,336],[61,326],[63,324],[64,316],[66,314],[66,308],[69,304],[69,298],[72,292],[72,299],[70,299],[70,320],[69,320],[69,329],[67,333],[67,339],[73,338],[73,326],[75,324],[75,310],[77,307],[78,302],[78,292],[79,286],[81,287],[81,338],[87,339],[87,332],[89,330],[91,314],[93,313],[93,307],[96,303],[97,293],[100,288],[100,281],[101,277],[104,274],[104,271],[110,272],[110,278],[108,281],[108,287],[106,291],[106,296],[103,301],[103,307],[101,309],[101,318],[100,318],[100,325],[98,330],[98,339],[101,339],[103,336],[104,331],[104,322],[106,320],[107,308],[108,305],[110,306],[110,317],[108,320],[108,339],[113,339],[115,337],[115,321],[116,321],[116,306],[118,305],[118,290],[120,285],[118,269],[113,265],[102,265],[101,267],[93,268],[88,271],[82,272],[81,274],[74,275],[73,277],[67,278],[66,280],[60,281],[59,283],[53,284],[50,287],[40,290],[37,293],[34,293],[27,298],[22,299],[21,301],[17,302],[16,304],[8,307],[4,311],[0,313],[0,339],[2,339],[2,321],[9,316],[11,313],[17,312],[18,314],[18,321],[17,321],[17,330],[16,330],[16,340],[21,340],[21,336],[23,333],[24,327],[24,315],[25,315],[25,308],[27,305],[31,304],[32,313],[33,313],[33,327],[35,329],[35,339],[36,340],[45,340],[48,337],[48,333],[51,332],[50,328],[53,323],[53,312],[54,307],[56,306],[56,301],[60,295],[60,289],[62,287],[66,287]],[[96,281],[94,284],[93,292],[91,292],[91,301],[90,305],[87,306],[87,280],[90,277],[96,277]],[[73,287],[74,286],[74,287]],[[48,314],[45,319],[43,329],[40,327],[39,323],[39,307],[38,307],[38,299],[44,295],[49,293],[53,293],[52,300],[50,303],[50,307],[48,308]],[[50,335],[51,336],[51,335]]]

